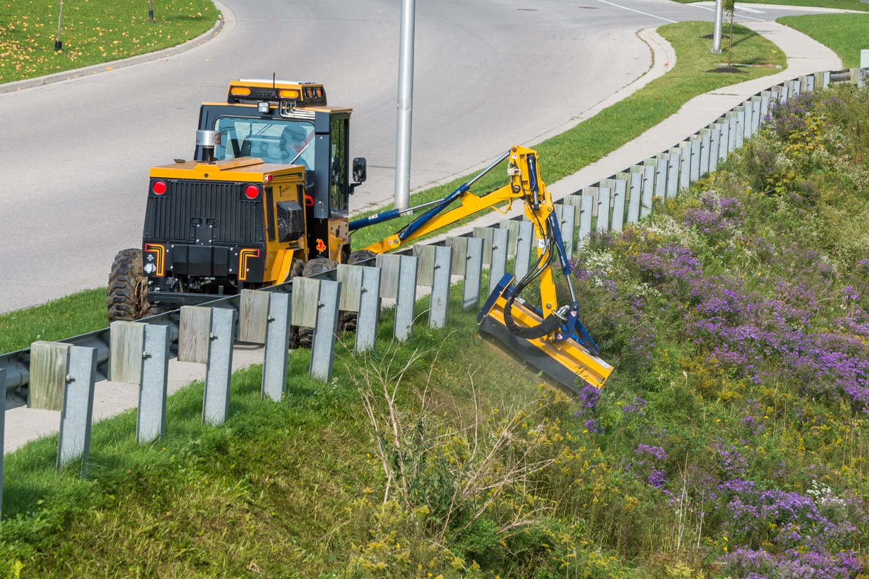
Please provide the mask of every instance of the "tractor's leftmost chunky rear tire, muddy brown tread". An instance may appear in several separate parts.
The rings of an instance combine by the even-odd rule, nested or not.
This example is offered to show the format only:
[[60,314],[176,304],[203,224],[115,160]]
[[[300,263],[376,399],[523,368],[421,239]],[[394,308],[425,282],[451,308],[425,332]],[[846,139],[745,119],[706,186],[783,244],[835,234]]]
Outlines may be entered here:
[[109,274],[109,323],[135,321],[149,315],[148,282],[142,270],[142,250],[123,249],[115,256]]

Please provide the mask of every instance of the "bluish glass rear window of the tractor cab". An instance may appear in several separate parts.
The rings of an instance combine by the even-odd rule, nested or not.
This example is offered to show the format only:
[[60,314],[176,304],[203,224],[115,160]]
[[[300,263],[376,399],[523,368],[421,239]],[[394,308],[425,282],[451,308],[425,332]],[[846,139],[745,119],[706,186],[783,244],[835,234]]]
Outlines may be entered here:
[[293,163],[314,170],[314,125],[310,122],[222,116],[215,130],[221,133],[221,144],[215,147],[218,161],[259,157],[267,163]]

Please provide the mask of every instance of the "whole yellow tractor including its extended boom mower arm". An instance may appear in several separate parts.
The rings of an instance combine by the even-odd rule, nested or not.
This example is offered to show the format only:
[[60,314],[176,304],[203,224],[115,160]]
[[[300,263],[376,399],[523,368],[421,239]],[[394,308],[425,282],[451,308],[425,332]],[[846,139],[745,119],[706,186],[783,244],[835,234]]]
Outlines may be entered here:
[[[349,195],[366,177],[365,159],[348,157],[351,112],[328,105],[322,84],[311,82],[232,81],[227,102],[202,103],[194,160],[150,169],[143,245],[116,255],[109,321],[321,273],[395,250],[483,209],[521,201],[534,223],[538,259],[525,280],[501,280],[480,313],[480,331],[564,385],[574,387],[580,378],[601,387],[612,368],[598,358],[579,322],[537,154],[511,148],[441,201],[349,221]],[[470,193],[503,161],[506,186]],[[356,229],[417,211],[421,215],[397,234],[351,253]],[[556,259],[571,293],[568,306],[557,303]],[[540,281],[540,310],[518,297],[533,280]]]

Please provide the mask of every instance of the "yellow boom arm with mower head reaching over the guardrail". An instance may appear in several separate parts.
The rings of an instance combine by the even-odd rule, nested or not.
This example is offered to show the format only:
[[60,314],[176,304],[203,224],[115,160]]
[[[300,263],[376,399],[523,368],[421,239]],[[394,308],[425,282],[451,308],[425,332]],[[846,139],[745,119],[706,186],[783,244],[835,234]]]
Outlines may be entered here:
[[[509,178],[507,185],[483,196],[470,193],[474,181],[505,159]],[[500,339],[526,361],[564,385],[573,388],[576,378],[580,378],[600,388],[612,372],[612,367],[598,358],[598,346],[579,321],[580,308],[571,281],[570,263],[554,214],[552,197],[541,180],[537,161],[536,151],[530,148],[510,148],[473,180],[463,183],[441,201],[429,204],[431,208],[397,234],[365,249],[375,253],[388,252],[488,207],[506,202],[509,209],[514,200],[521,200],[527,219],[534,224],[537,260],[531,271],[522,280],[516,281],[515,285],[512,275],[508,273],[504,276],[478,316],[481,333]],[[459,201],[460,207],[441,214],[454,201]],[[351,222],[349,228],[353,231],[372,223],[395,219],[421,207],[403,212],[394,209],[372,215]],[[561,307],[558,306],[552,271],[556,256],[570,290],[570,304]],[[541,310],[528,306],[519,298],[519,294],[534,280],[540,284]]]

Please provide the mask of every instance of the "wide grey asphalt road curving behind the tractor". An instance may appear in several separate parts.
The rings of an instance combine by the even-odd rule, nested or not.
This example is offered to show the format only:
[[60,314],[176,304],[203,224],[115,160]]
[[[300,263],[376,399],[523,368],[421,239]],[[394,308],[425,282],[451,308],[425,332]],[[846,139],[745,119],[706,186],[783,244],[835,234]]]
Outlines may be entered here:
[[[115,253],[140,245],[149,167],[191,157],[198,105],[230,79],[322,82],[354,109],[350,153],[368,158],[351,208],[392,200],[401,2],[222,9],[222,31],[181,54],[0,94],[0,313],[105,284]],[[712,18],[667,0],[417,3],[412,190],[573,126],[649,69],[638,30]]]

